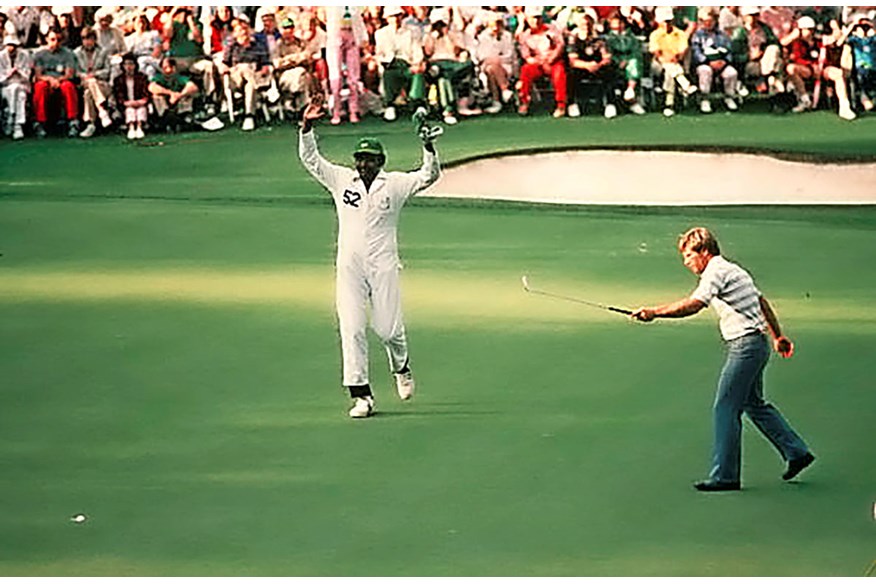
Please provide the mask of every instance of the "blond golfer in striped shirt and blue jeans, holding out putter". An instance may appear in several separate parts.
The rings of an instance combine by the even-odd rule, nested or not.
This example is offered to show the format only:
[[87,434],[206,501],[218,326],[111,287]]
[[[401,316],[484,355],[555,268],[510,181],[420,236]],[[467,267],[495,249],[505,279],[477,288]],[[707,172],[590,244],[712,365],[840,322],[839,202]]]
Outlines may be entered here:
[[775,312],[751,276],[721,256],[718,241],[708,229],[689,230],[679,239],[678,249],[684,265],[700,277],[699,285],[688,298],[655,308],[639,308],[632,318],[642,322],[682,318],[709,304],[720,318],[727,359],[715,396],[712,469],[709,477],[694,487],[699,491],[740,489],[743,413],[788,462],[782,478],[793,479],[812,464],[815,456],[779,410],[764,401],[763,371],[770,354],[767,334],[782,357],[790,357],[794,345],[782,335]]

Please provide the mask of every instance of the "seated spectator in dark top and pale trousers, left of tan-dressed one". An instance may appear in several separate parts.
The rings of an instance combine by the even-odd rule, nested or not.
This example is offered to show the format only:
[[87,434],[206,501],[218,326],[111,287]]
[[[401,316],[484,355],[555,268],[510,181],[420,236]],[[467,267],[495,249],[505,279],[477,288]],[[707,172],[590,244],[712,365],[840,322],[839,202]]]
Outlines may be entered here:
[[[254,130],[256,97],[259,89],[271,83],[271,60],[268,48],[256,40],[244,15],[238,17],[233,41],[225,49],[219,71],[228,75],[232,92],[243,92],[244,118],[241,130]],[[233,104],[229,104],[229,107],[233,107]]]

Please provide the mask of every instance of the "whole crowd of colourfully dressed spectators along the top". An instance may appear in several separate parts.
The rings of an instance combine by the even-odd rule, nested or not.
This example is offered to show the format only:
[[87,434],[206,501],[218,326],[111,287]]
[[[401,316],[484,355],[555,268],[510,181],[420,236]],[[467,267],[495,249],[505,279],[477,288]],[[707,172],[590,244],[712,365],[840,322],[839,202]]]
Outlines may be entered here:
[[830,108],[876,99],[869,6],[0,7],[0,123],[90,138],[425,106],[446,124],[552,112]]

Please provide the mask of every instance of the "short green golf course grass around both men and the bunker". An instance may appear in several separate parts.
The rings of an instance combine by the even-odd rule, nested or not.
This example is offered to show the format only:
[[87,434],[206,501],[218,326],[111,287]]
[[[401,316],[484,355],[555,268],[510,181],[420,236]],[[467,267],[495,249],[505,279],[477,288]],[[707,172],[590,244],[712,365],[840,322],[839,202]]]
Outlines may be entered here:
[[[876,152],[872,119],[826,113],[615,121],[477,120],[439,148]],[[403,124],[319,132],[335,160],[372,133],[391,168],[416,165]],[[294,132],[160,139],[0,145],[0,574],[860,576],[876,558],[876,208],[414,200],[418,394],[397,400],[374,342],[379,414],[352,421],[334,212]],[[797,343],[766,380],[818,456],[798,481],[747,425],[744,491],[691,489],[712,313],[642,325],[521,288],[673,300],[695,284],[675,251],[693,225]]]

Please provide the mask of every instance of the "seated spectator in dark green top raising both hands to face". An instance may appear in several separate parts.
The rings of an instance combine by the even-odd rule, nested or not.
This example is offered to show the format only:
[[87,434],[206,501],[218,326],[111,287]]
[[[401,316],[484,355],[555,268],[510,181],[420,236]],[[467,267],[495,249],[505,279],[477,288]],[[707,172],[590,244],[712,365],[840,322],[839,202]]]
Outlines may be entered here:
[[[216,66],[204,56],[204,36],[195,21],[191,6],[176,6],[164,24],[165,54],[174,57],[180,71],[201,79],[207,114],[213,115],[218,103]],[[190,77],[187,77],[191,80]]]

